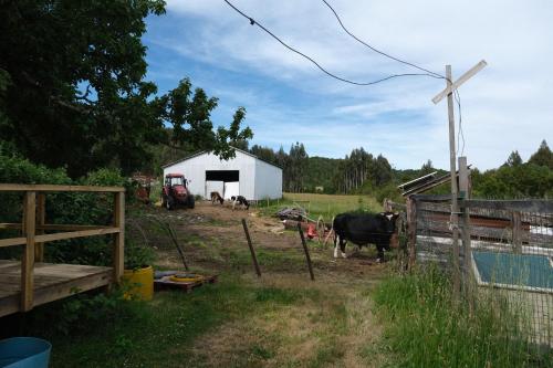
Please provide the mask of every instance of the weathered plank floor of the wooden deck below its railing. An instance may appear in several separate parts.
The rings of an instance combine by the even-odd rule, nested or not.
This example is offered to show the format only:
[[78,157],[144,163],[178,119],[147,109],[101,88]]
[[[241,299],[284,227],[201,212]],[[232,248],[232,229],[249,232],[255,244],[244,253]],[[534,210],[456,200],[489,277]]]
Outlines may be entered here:
[[[35,263],[33,306],[108,285],[112,267]],[[21,262],[0,260],[0,317],[21,311]]]

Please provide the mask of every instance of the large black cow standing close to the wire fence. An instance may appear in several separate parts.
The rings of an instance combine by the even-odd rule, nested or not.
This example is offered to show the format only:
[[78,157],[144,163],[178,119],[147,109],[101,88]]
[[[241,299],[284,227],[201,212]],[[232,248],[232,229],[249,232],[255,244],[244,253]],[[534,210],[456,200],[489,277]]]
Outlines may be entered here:
[[378,262],[384,261],[384,250],[389,251],[389,240],[396,230],[398,213],[382,212],[368,213],[340,213],[334,218],[334,257],[338,256],[338,245],[345,259],[347,241],[363,246],[375,244],[378,250]]

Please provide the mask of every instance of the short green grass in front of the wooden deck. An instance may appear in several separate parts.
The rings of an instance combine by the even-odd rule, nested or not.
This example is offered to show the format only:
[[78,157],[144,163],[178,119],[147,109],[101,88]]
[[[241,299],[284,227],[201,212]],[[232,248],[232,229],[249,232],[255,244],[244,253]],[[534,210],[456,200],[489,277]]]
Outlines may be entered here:
[[[204,365],[204,358],[194,354],[192,347],[213,328],[252,316],[278,315],[280,308],[316,304],[320,297],[317,290],[263,286],[223,274],[220,283],[191,294],[168,291],[156,294],[149,303],[125,302],[108,323],[98,323],[102,312],[91,322],[74,320],[79,329],[55,328],[65,311],[60,306],[71,299],[40,306],[24,316],[24,324],[15,324],[25,325],[24,332],[15,334],[50,340],[52,367],[196,367]],[[254,334],[259,336],[243,351],[237,351],[232,366],[262,366],[275,357],[280,336],[263,330]]]

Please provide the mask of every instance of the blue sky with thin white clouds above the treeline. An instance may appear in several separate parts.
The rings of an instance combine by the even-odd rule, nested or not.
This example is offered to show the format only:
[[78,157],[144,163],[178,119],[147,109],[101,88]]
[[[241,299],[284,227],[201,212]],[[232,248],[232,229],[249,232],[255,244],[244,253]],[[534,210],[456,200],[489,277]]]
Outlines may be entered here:
[[[512,150],[526,160],[546,139],[553,147],[553,1],[327,0],[361,40],[453,80],[486,60],[460,88],[458,155],[479,169]],[[236,7],[332,73],[357,82],[416,73],[348,36],[321,0],[232,0]],[[341,158],[364,147],[397,169],[430,159],[449,168],[447,102],[431,98],[444,80],[410,76],[373,86],[345,84],[290,52],[222,0],[168,0],[148,17],[147,78],[159,93],[190,77],[219,98],[216,126],[244,106],[258,144]],[[456,109],[456,127],[459,112]],[[457,133],[456,133],[457,134]]]

